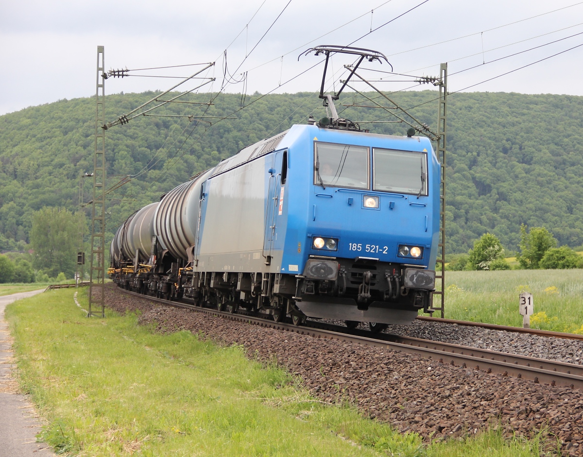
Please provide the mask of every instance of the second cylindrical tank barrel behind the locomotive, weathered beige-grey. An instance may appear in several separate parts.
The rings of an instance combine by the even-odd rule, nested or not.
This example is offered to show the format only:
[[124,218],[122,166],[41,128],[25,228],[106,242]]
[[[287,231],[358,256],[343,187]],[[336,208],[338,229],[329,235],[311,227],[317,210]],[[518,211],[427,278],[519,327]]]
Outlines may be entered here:
[[128,259],[135,258],[136,250],[139,250],[139,261],[149,260],[154,236],[154,214],[158,204],[156,201],[143,207],[124,224],[122,246]]

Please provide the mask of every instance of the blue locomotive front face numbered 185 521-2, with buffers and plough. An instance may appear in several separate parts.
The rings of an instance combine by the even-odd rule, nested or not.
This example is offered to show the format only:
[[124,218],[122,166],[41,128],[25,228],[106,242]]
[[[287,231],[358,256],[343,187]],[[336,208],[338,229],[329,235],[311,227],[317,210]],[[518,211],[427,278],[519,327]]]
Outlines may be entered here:
[[308,317],[410,323],[429,310],[435,285],[440,164],[429,140],[309,128],[298,309]]

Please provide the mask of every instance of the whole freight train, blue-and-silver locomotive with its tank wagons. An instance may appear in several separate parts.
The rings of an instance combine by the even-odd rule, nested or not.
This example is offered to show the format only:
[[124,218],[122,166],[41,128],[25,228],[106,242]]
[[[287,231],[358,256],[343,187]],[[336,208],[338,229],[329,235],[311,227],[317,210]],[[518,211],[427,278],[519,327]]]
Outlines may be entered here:
[[131,215],[110,277],[236,313],[410,323],[429,311],[440,163],[430,140],[342,119],[245,147]]

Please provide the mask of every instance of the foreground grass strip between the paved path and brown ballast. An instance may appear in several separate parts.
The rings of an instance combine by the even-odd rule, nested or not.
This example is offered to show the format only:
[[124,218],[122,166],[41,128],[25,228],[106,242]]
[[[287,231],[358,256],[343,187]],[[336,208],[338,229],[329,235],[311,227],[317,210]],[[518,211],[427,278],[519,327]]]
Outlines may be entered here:
[[[350,405],[315,401],[285,370],[200,335],[160,335],[136,316],[88,320],[72,290],[6,310],[22,389],[59,453],[90,456],[527,456],[539,441],[495,432],[421,445]],[[79,294],[83,295],[83,294]],[[86,297],[80,297],[86,304]]]

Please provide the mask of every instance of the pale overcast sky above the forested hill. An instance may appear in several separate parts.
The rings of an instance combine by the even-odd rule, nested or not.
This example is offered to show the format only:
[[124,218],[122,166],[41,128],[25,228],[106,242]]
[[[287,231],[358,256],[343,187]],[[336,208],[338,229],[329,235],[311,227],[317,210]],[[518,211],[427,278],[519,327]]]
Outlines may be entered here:
[[[247,93],[274,89],[275,92],[316,91],[322,65],[286,83],[321,60],[308,55],[298,61],[301,51],[318,44],[347,45],[423,0],[288,2],[2,1],[0,114],[62,98],[93,95],[97,45],[105,46],[107,69],[216,62],[205,76],[215,76],[217,80],[212,87],[205,86],[205,91],[220,88],[223,51],[227,48],[227,67],[234,77],[248,72]],[[528,19],[536,15],[541,16]],[[548,44],[556,40],[560,41]],[[439,42],[443,43],[436,44]],[[440,62],[449,62],[450,74],[477,65],[449,78],[451,92],[581,44],[583,2],[428,0],[394,22],[368,33],[354,46],[381,51],[398,73],[437,75]],[[534,47],[538,48],[487,63]],[[351,59],[342,56],[333,59],[331,70],[336,81],[341,77],[342,66],[350,62]],[[387,63],[370,63],[367,67],[389,70]],[[130,74],[188,76],[194,73],[194,68]],[[374,75],[377,79],[383,76]],[[468,91],[583,95],[581,75],[583,46]],[[368,76],[373,77],[373,73]],[[108,79],[106,93],[165,90],[177,81],[137,76]],[[329,84],[334,88],[333,79]],[[391,91],[413,85],[408,82],[378,84]],[[241,90],[242,83],[226,87],[227,92]]]

